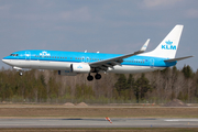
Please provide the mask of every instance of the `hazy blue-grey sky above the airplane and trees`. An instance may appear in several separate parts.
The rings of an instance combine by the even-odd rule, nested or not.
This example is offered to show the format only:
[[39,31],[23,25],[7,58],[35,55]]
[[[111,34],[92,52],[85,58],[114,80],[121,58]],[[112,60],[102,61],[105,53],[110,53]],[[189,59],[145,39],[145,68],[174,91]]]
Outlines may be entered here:
[[[184,24],[176,57],[198,69],[198,0],[0,0],[0,58],[22,50],[129,54]],[[0,67],[11,68],[0,62]]]

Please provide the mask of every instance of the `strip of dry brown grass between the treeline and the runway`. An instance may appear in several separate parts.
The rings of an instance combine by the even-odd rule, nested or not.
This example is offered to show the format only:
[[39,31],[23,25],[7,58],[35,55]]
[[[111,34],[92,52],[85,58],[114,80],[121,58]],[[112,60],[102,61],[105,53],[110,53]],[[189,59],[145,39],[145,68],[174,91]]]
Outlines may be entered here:
[[198,118],[198,107],[65,107],[0,105],[0,118]]

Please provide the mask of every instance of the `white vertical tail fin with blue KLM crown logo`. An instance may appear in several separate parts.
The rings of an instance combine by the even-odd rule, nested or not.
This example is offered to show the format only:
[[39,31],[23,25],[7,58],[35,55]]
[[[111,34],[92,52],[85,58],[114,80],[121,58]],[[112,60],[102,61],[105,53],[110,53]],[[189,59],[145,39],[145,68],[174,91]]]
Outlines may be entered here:
[[175,25],[161,44],[144,56],[175,58],[184,25]]

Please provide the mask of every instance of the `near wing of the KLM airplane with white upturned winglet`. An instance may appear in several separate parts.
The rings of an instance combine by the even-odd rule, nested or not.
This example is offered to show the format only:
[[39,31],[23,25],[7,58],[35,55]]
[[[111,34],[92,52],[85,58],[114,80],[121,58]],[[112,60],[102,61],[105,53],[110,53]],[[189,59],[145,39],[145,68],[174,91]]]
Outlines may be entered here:
[[140,51],[138,51],[138,52],[134,52],[134,53],[131,53],[131,54],[125,54],[125,55],[113,57],[113,58],[109,58],[109,59],[105,59],[105,61],[99,61],[99,62],[90,63],[89,65],[91,67],[97,67],[97,68],[103,69],[103,70],[107,70],[108,67],[113,68],[113,66],[116,66],[116,65],[120,65],[121,66],[121,63],[123,62],[124,58],[128,58],[128,57],[131,57],[133,55],[138,55],[138,54],[143,53],[146,50],[146,47],[148,45],[148,42],[150,42],[150,38],[144,43],[142,48]]

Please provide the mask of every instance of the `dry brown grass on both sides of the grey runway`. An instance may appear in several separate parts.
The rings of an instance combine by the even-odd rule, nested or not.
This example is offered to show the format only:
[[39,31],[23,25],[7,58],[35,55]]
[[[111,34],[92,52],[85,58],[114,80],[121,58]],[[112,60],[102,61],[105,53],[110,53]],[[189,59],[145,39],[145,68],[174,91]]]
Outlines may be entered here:
[[[198,118],[198,107],[0,105],[0,119],[15,118]],[[0,132],[198,132],[197,128],[23,128]]]

